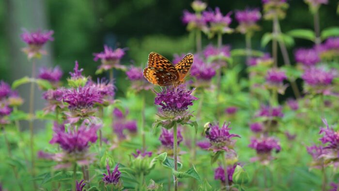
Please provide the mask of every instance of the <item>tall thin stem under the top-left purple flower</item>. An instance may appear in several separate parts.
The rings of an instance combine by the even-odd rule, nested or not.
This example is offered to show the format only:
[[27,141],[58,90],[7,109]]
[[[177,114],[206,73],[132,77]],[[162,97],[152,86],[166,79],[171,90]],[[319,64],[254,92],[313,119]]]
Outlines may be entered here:
[[[32,74],[31,74],[31,78],[32,80],[35,78],[35,67],[36,67],[36,63],[35,63],[35,59],[32,60]],[[32,177],[34,179],[35,177],[35,155],[34,155],[34,118],[33,118],[33,112],[34,112],[34,82],[31,81],[31,92],[30,92],[30,116],[31,116],[31,120],[29,122],[29,126],[30,126],[30,139],[31,139],[31,174]],[[33,184],[34,184],[34,189],[37,190],[37,185],[36,182],[33,180]]]

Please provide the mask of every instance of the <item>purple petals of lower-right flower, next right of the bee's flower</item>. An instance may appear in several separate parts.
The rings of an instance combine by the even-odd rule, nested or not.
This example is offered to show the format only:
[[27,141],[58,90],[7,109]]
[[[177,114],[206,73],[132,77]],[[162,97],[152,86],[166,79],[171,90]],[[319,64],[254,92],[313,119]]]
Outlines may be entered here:
[[260,139],[252,139],[248,147],[257,151],[257,154],[268,154],[272,150],[279,152],[281,150],[280,143],[272,137],[262,137]]

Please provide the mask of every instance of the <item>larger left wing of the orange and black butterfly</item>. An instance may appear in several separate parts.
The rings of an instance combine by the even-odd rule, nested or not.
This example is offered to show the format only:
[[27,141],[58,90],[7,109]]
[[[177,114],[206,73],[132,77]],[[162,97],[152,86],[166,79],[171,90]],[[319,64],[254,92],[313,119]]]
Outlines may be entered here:
[[144,69],[143,75],[149,82],[160,86],[172,85],[179,79],[179,73],[174,65],[156,52],[149,54],[148,67]]

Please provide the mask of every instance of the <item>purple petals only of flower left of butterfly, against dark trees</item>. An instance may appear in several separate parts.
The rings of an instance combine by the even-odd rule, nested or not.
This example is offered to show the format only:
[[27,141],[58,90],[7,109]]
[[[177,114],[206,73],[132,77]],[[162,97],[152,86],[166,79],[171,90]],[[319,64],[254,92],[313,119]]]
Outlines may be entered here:
[[104,60],[104,61],[117,61],[123,58],[125,55],[125,50],[122,48],[117,48],[113,50],[112,48],[108,47],[107,45],[104,46],[104,51],[99,53],[93,53],[94,61]]

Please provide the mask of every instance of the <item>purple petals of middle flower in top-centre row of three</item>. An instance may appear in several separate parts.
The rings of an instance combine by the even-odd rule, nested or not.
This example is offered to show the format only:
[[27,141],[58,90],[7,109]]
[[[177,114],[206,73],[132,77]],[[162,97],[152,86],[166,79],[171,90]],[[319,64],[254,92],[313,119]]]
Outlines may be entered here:
[[206,22],[210,22],[213,24],[223,24],[225,26],[231,24],[231,14],[232,12],[229,12],[227,15],[223,16],[219,7],[216,7],[215,11],[209,10],[202,12],[202,15]]

